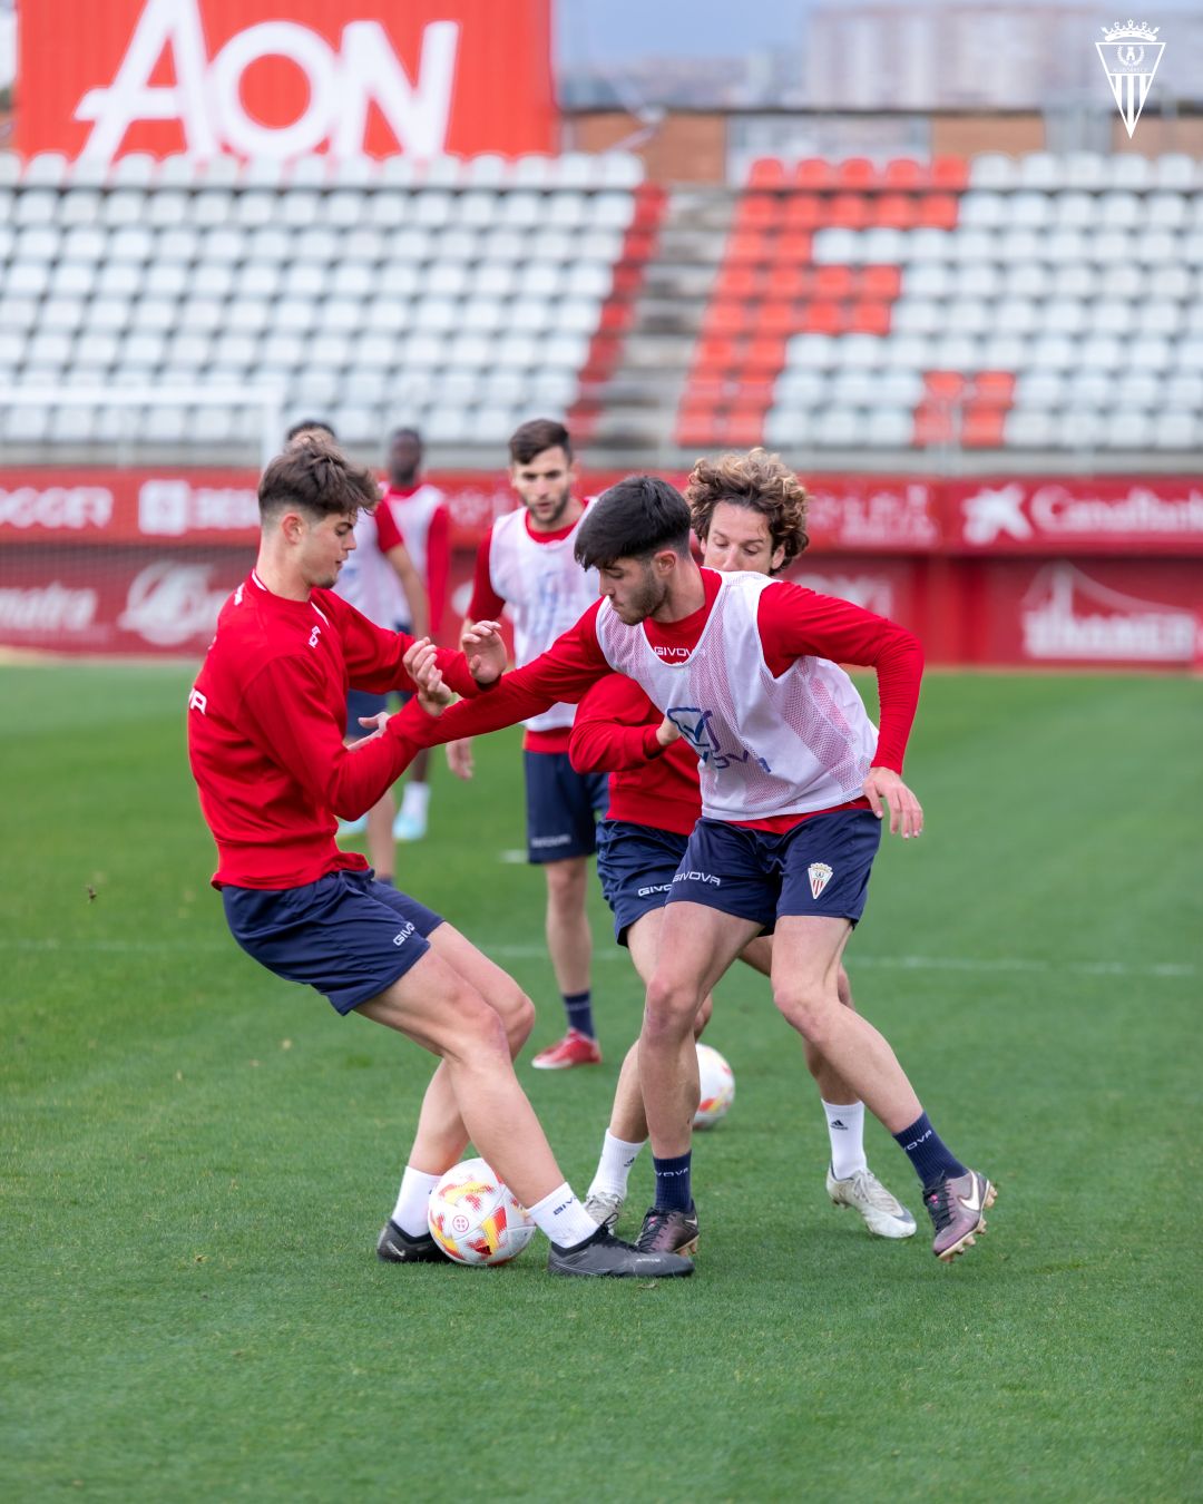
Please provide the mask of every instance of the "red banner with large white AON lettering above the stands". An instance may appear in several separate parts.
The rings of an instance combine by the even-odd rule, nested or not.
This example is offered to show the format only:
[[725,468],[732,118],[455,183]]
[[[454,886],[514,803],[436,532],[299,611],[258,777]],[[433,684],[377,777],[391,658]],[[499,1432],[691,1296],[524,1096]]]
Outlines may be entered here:
[[35,0],[21,6],[17,144],[102,162],[550,152],[549,11],[550,0]]

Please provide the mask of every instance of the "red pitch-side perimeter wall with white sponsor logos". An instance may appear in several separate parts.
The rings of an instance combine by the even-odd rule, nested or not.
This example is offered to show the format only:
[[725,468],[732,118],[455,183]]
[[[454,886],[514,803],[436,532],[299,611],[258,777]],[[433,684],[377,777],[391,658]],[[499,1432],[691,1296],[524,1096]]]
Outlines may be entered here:
[[[453,597],[514,504],[504,475],[435,474]],[[591,493],[617,475],[586,477]],[[0,471],[0,645],[200,656],[257,532],[251,471]],[[684,477],[674,477],[680,484]],[[1203,653],[1203,483],[812,477],[789,578],[913,627],[931,663],[1185,668]]]

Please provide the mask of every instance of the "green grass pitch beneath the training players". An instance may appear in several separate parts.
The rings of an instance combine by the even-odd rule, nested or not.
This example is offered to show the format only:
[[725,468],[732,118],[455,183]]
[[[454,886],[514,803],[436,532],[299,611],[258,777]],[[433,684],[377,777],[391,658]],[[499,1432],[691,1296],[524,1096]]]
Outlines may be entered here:
[[[1000,1187],[931,1256],[824,1196],[795,1038],[732,975],[690,1281],[379,1263],[429,1060],[259,970],[208,886],[183,668],[0,669],[0,1496],[1186,1499],[1200,1484],[1200,684],[932,675],[848,951]],[[516,734],[436,770],[400,881],[559,1033]],[[95,898],[89,895],[95,893]],[[579,1191],[641,996],[592,895],[606,1065],[520,1077]],[[635,1173],[635,1226],[650,1188]]]

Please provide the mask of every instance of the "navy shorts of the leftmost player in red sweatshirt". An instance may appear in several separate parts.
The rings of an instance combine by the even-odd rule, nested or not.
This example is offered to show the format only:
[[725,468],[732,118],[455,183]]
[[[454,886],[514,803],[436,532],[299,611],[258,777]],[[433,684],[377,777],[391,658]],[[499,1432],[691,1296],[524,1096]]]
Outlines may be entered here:
[[247,955],[289,982],[317,988],[340,1014],[405,976],[442,923],[370,871],[329,872],[304,887],[223,887],[221,901]]

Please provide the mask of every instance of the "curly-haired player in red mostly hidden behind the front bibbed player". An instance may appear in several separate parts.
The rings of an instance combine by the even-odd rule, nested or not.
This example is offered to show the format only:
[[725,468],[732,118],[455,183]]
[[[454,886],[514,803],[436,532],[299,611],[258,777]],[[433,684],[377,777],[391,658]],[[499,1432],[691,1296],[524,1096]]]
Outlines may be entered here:
[[[800,486],[765,496],[755,487],[716,484],[737,456],[699,460],[686,490],[693,531],[707,569],[777,575],[806,547],[806,493]],[[677,725],[662,716],[624,674],[609,674],[577,705],[568,754],[577,772],[609,773],[609,814],[597,827],[597,875],[614,910],[615,940],[630,951],[644,985],[651,982],[665,920],[665,904],[701,818],[698,758]],[[758,935],[740,960],[771,976],[773,942]],[[839,967],[839,1000],[853,1008],[848,973]],[[695,1023],[710,1017],[707,997]],[[910,1238],[914,1217],[878,1181],[865,1157],[865,1104],[823,1053],[803,1038],[806,1066],[815,1078],[830,1139],[827,1194],[854,1206],[880,1238]],[[585,1196],[585,1209],[615,1227],[627,1199],[632,1166],[648,1136],[639,1089],[639,1045],[630,1047],[618,1075],[602,1155]]]

